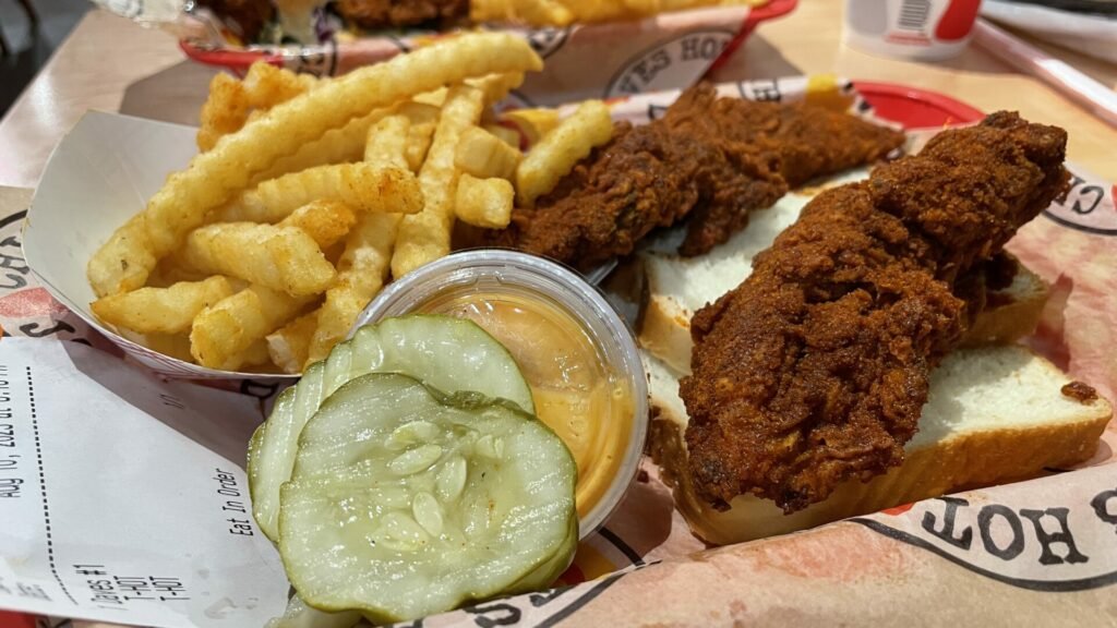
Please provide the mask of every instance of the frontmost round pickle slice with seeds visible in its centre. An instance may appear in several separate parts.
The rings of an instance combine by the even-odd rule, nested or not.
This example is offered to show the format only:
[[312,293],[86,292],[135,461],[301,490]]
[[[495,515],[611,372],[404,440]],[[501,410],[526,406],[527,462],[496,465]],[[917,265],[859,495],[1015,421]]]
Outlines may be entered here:
[[573,559],[576,476],[513,403],[363,375],[303,429],[279,553],[307,605],[374,621],[538,589]]

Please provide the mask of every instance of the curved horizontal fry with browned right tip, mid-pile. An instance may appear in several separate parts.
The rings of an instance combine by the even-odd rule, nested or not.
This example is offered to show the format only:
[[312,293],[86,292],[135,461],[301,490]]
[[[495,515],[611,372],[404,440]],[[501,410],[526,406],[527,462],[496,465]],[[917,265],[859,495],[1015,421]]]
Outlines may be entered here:
[[265,181],[218,216],[227,222],[278,222],[315,200],[342,202],[359,213],[416,213],[422,209],[419,182],[410,170],[335,163]]

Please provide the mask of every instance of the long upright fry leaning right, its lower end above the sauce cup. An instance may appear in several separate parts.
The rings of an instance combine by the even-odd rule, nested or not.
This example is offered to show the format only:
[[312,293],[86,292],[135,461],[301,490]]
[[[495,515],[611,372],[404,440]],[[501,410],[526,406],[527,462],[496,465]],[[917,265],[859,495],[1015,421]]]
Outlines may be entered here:
[[450,253],[454,194],[458,187],[454,153],[461,134],[480,120],[483,107],[484,94],[475,87],[457,86],[447,95],[427,161],[419,171],[423,210],[405,216],[400,222],[392,276],[402,277]]

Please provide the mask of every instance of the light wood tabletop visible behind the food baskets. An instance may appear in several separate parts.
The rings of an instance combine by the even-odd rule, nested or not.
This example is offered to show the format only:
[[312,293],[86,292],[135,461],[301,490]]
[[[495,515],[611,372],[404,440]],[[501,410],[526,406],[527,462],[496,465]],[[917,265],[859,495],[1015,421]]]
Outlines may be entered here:
[[[714,78],[834,73],[939,92],[983,111],[1018,110],[1029,120],[1067,129],[1069,159],[1117,181],[1117,130],[976,47],[934,65],[847,48],[841,44],[843,4],[800,0],[792,15],[762,25]],[[1106,85],[1117,84],[1117,66],[1040,46]],[[86,110],[197,124],[216,72],[189,61],[165,31],[92,11],[0,122],[0,185],[35,187],[50,151]]]

